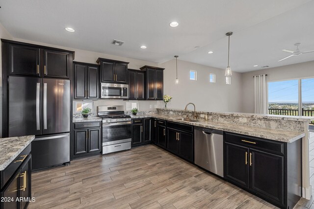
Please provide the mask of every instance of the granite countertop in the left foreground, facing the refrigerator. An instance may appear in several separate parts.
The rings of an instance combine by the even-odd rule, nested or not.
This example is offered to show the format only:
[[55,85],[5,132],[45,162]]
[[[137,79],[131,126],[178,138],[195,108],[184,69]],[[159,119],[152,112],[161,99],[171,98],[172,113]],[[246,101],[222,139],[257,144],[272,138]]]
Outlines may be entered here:
[[34,139],[34,135],[0,139],[0,171],[12,163]]

